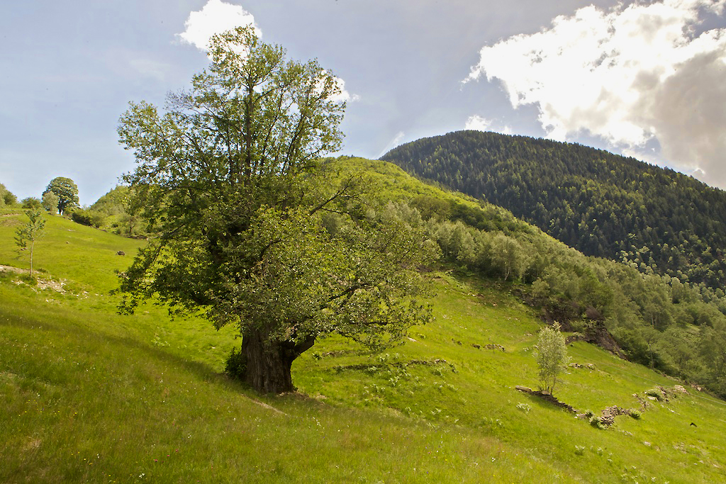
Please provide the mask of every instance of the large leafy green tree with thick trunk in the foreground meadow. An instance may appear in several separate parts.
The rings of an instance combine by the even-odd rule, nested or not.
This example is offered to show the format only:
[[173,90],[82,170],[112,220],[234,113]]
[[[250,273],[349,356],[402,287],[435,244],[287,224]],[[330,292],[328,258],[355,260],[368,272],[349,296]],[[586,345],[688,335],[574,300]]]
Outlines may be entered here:
[[211,41],[211,67],[166,113],[131,103],[118,134],[126,176],[160,231],[121,274],[121,309],[158,298],[242,335],[240,377],[293,390],[292,362],[338,333],[378,348],[429,319],[417,303],[423,225],[366,204],[363,177],[330,170],[345,103],[316,61],[239,28]]

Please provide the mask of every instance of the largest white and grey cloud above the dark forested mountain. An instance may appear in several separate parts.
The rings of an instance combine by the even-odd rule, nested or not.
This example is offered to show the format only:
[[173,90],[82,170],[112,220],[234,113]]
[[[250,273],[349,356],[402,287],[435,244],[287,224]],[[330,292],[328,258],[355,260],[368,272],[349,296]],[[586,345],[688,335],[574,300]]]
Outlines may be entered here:
[[[550,28],[484,46],[464,82],[498,79],[513,107],[535,104],[554,139],[582,132],[661,157],[726,188],[726,29],[696,35],[726,0],[578,9]],[[652,143],[651,143],[652,144]]]

